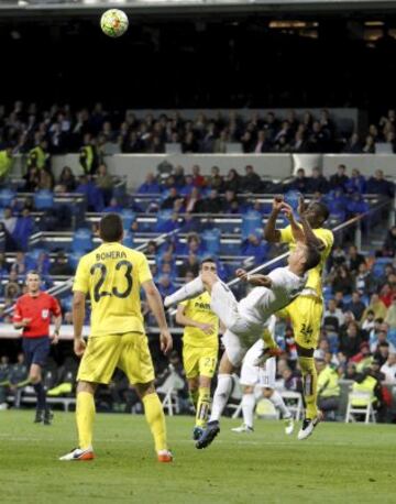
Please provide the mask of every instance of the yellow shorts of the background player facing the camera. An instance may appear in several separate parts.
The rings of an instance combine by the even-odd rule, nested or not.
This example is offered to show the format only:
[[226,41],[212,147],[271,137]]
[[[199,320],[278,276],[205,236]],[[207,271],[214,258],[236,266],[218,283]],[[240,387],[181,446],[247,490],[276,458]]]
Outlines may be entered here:
[[217,348],[183,346],[183,365],[188,379],[197,376],[213,377],[217,360]]

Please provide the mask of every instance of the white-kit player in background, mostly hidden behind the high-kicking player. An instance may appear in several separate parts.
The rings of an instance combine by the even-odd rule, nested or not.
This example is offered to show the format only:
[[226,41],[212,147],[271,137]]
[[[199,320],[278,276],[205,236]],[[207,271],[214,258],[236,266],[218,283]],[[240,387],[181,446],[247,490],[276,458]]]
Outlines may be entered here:
[[[266,329],[272,335],[275,332],[275,324],[276,317],[272,315]],[[271,357],[263,365],[257,365],[257,360],[260,360],[263,354],[264,348],[264,340],[257,340],[253,347],[248,350],[243,359],[240,377],[240,384],[243,387],[241,403],[243,424],[231,430],[237,434],[253,432],[253,416],[256,402],[261,397],[265,397],[279,410],[285,423],[285,432],[290,435],[294,429],[293,415],[286,406],[282,395],[275,390],[276,358]]]

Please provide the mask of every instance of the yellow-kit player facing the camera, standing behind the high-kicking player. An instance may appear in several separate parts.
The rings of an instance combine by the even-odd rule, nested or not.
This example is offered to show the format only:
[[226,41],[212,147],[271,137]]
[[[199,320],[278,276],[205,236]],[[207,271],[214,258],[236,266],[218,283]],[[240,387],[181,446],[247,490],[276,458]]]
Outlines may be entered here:
[[[200,273],[217,273],[216,262],[206,259]],[[210,294],[207,292],[183,302],[177,307],[176,321],[185,326],[183,333],[183,364],[188,390],[196,408],[196,424],[193,439],[201,436],[210,409],[210,382],[213,377],[219,352],[219,318],[210,309]]]

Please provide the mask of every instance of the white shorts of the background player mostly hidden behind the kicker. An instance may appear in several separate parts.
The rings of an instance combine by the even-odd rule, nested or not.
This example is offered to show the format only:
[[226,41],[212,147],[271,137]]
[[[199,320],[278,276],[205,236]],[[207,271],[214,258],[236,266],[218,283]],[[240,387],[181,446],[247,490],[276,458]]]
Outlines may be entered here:
[[276,359],[266,360],[264,366],[254,365],[263,349],[264,341],[258,340],[248,350],[241,369],[241,385],[275,388]]

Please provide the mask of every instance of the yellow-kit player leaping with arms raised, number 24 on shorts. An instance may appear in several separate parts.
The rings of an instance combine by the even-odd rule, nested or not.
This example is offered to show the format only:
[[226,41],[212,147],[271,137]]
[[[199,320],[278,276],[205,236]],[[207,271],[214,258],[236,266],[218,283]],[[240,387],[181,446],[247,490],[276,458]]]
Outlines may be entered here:
[[[287,243],[289,249],[294,250],[296,248],[296,239],[290,226],[284,229],[275,228],[276,219],[280,211],[285,211],[285,202],[283,201],[283,197],[276,197],[272,213],[264,229],[264,238],[268,242]],[[293,211],[290,207],[289,211]],[[304,201],[301,200],[298,213],[301,231],[304,230],[306,235],[309,237],[310,242],[316,244],[321,259],[319,265],[309,271],[308,282],[302,293],[277,315],[290,319],[295,333],[306,403],[305,419],[298,432],[298,439],[302,440],[312,434],[314,428],[320,421],[320,415],[317,408],[318,376],[315,368],[314,350],[318,347],[323,315],[322,274],[334,238],[329,229],[322,228],[329,217],[329,210],[326,205],[312,201],[305,209]]]

